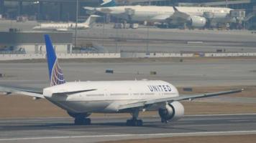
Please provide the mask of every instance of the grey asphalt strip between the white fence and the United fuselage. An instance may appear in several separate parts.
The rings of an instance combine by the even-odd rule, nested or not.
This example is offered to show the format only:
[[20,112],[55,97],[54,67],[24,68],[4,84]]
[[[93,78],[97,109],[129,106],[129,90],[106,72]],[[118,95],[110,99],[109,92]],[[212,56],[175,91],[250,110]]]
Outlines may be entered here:
[[[206,59],[207,60],[207,59]],[[86,63],[86,61],[60,61],[66,81],[113,81],[157,79],[176,87],[244,86],[256,84],[256,59],[183,61],[183,62],[128,62]],[[18,87],[47,87],[46,63],[0,63],[0,85]],[[113,69],[114,74],[106,74]],[[151,75],[150,71],[156,71]]]

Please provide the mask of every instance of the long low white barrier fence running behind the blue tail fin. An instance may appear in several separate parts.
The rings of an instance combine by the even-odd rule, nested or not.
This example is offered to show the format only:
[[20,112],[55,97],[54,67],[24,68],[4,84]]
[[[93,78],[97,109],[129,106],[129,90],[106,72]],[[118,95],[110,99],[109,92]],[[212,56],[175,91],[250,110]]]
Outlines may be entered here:
[[[161,58],[161,57],[232,57],[256,56],[256,53],[88,53],[88,54],[57,54],[59,59],[109,59],[109,58]],[[45,54],[0,54],[0,61],[22,59],[45,59]]]

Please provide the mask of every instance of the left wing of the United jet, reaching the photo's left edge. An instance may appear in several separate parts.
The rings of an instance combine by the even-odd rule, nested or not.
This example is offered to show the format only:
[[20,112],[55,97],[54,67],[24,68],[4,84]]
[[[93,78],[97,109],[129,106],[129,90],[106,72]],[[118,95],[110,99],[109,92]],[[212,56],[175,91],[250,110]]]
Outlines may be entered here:
[[30,97],[36,97],[40,99],[45,99],[42,95],[42,89],[29,89],[24,87],[5,87],[0,86],[0,92],[4,92],[5,94],[24,94]]

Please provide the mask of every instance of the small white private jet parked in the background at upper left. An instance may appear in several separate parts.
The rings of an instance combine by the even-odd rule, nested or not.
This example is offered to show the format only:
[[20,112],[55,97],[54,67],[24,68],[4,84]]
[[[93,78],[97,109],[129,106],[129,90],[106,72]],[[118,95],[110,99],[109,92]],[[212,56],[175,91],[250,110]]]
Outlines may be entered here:
[[[78,23],[78,29],[88,29],[100,17],[91,15],[83,23]],[[44,23],[33,27],[33,30],[70,31],[76,29],[76,23]]]

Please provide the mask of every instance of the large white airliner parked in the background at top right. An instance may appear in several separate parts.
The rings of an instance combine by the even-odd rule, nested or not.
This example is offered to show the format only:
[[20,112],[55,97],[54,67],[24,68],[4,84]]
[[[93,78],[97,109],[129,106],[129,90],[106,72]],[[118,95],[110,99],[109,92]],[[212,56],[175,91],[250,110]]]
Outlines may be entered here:
[[84,7],[84,9],[99,11],[129,21],[167,22],[175,25],[186,23],[192,27],[204,27],[209,20],[213,24],[232,21],[229,17],[232,9],[224,7],[114,6],[114,0],[104,0],[101,6]]

